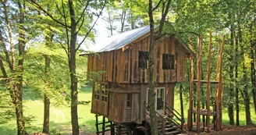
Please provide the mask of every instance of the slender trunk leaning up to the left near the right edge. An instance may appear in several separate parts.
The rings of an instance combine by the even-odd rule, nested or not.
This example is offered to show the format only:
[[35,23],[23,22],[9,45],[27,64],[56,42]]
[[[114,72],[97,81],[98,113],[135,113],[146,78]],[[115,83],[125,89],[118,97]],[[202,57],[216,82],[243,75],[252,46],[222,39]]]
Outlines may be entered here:
[[238,26],[238,34],[239,34],[239,43],[241,46],[241,54],[243,55],[243,83],[244,83],[244,106],[245,106],[245,116],[247,125],[252,125],[251,121],[251,111],[250,111],[250,96],[248,94],[248,84],[247,84],[247,66],[245,65],[245,51],[243,44],[242,31],[240,30],[240,26]]

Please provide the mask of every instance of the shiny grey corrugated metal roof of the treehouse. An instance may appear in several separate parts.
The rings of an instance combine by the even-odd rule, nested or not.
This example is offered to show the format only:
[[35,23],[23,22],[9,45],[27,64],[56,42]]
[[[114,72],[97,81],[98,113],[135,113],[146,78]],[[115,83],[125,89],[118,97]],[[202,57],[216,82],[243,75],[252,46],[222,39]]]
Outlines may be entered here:
[[[118,34],[116,36],[108,37],[107,41],[103,44],[101,42],[101,48],[98,52],[108,52],[112,50],[117,50],[119,48],[123,48],[127,44],[137,40],[137,38],[147,34],[150,31],[150,26],[140,27],[134,30],[126,31],[122,34]],[[98,45],[98,44],[97,44]]]

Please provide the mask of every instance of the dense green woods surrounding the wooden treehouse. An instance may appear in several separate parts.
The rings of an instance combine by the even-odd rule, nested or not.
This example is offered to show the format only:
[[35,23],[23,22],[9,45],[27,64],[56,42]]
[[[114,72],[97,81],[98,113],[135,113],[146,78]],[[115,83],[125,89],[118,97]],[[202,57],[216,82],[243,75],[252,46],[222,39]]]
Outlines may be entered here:
[[[171,0],[2,0],[0,3],[0,127],[16,120],[16,133],[28,134],[27,127],[33,116],[24,116],[26,93],[40,97],[44,103],[42,129],[34,132],[50,133],[51,107],[67,105],[70,108],[70,131],[80,132],[77,105],[87,105],[91,98],[78,99],[81,85],[87,80],[87,46],[98,35],[98,20],[104,22],[108,35],[123,33],[150,25],[149,95],[155,98],[154,58],[155,41],[165,34],[177,37],[192,46],[197,54],[197,37],[202,38],[201,78],[207,79],[208,37],[212,33],[212,66],[214,72],[218,41],[225,35],[223,48],[223,101],[222,112],[229,116],[228,124],[240,126],[241,117],[246,125],[255,124],[256,115],[256,1],[171,1]],[[215,42],[214,42],[215,41]],[[97,54],[95,54],[97,55]],[[197,73],[194,58],[194,74]],[[181,110],[188,105],[190,64],[187,61],[186,82],[176,85],[180,94]],[[194,76],[196,77],[196,76]],[[215,87],[211,86],[211,95]],[[201,87],[201,106],[206,105],[206,86]],[[196,95],[193,95],[194,97]],[[209,97],[211,100],[214,99]],[[149,98],[150,99],[150,98]],[[197,102],[198,103],[198,102]],[[214,101],[210,101],[213,106]],[[155,100],[149,100],[151,123],[155,123]],[[196,106],[194,101],[194,107]],[[176,108],[180,108],[177,106]],[[90,112],[90,110],[88,110]],[[244,115],[241,115],[241,114]],[[187,115],[184,109],[183,115]],[[195,118],[195,117],[194,117]],[[33,126],[33,125],[32,125]],[[158,134],[152,124],[152,134]],[[2,129],[0,128],[0,134]]]

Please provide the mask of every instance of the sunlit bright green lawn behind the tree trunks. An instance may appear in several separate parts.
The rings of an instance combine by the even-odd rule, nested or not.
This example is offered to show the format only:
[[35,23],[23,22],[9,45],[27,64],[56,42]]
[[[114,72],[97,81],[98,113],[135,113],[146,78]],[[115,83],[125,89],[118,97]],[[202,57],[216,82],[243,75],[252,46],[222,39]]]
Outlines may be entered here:
[[[34,116],[34,121],[31,122],[32,126],[27,128],[29,133],[41,132],[43,125],[43,101],[39,98],[33,98],[33,95],[26,95],[24,98],[24,115]],[[80,101],[91,101],[91,88],[83,88],[78,94]],[[180,98],[179,95],[175,96],[174,107],[178,112],[180,112]],[[187,108],[184,106],[184,115],[187,121]],[[253,108],[251,106],[251,108]],[[62,107],[55,107],[51,105],[51,117],[50,117],[50,128],[52,134],[61,133],[69,134],[71,132],[70,125],[70,108],[69,104],[63,105]],[[256,123],[256,115],[254,111],[251,110],[251,119]],[[95,115],[91,114],[91,104],[89,105],[78,105],[78,116],[80,128],[86,133],[95,133]],[[226,110],[223,110],[223,123],[225,125],[229,124],[229,117]],[[245,114],[244,111],[240,112],[240,124],[245,125]],[[12,119],[9,123],[5,125],[0,125],[0,135],[13,135],[16,134],[16,121]]]

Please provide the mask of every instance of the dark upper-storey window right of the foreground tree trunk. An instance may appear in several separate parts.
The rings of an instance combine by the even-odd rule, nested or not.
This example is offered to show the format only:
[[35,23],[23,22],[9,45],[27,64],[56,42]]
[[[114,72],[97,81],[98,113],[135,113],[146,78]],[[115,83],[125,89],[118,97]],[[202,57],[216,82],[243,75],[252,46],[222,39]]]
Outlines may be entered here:
[[174,69],[174,55],[162,55],[162,69]]

